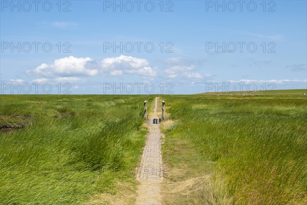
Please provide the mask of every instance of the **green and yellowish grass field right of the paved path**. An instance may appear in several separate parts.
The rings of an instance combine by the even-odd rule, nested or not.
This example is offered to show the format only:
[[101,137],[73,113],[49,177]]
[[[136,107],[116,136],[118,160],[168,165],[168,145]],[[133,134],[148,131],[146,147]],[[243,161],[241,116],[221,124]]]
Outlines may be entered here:
[[307,98],[163,96],[166,204],[306,204]]

